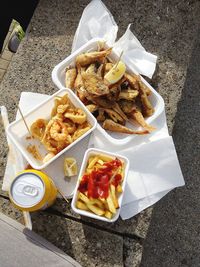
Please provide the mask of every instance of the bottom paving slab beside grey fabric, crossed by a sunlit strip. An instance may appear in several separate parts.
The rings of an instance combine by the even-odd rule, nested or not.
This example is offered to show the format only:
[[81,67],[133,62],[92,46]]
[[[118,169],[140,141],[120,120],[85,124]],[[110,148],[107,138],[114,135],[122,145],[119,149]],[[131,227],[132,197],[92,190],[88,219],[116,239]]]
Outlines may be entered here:
[[46,212],[32,213],[33,230],[83,267],[122,267],[123,237]]

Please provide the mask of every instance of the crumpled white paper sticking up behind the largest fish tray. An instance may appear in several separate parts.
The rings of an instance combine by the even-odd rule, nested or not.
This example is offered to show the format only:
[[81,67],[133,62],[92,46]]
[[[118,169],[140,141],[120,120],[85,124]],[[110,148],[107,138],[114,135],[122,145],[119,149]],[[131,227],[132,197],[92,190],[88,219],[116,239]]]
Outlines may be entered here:
[[93,38],[102,38],[119,55],[123,50],[125,59],[136,73],[152,77],[157,56],[148,53],[128,25],[124,35],[116,41],[118,26],[107,7],[100,0],[92,0],[84,9],[76,30],[72,52]]

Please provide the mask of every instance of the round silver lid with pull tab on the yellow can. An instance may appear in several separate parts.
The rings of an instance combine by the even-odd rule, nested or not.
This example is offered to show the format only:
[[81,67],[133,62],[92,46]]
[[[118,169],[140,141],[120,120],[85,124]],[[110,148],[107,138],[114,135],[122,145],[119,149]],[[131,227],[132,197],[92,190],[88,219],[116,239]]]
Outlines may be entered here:
[[35,173],[22,173],[13,180],[10,194],[13,201],[20,207],[32,207],[43,198],[44,183]]

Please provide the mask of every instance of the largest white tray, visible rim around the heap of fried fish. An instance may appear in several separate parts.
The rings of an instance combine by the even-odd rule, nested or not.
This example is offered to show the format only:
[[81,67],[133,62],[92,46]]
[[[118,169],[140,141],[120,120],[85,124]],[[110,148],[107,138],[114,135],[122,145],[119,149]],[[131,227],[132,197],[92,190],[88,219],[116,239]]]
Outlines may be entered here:
[[[82,47],[80,47],[79,49],[77,49],[74,53],[72,53],[70,56],[66,57],[63,61],[61,61],[59,64],[57,64],[53,71],[52,71],[52,80],[53,82],[60,88],[61,86],[65,87],[65,70],[67,66],[74,66],[75,63],[75,58],[79,55],[82,54],[84,52],[88,52],[88,51],[94,51],[98,49],[98,42],[102,41],[99,38],[95,38],[90,40],[89,42],[87,42],[85,45],[83,45]],[[108,48],[107,45],[105,45],[106,48]],[[118,59],[118,55],[112,51],[111,54],[109,55],[109,57],[116,62]],[[126,60],[124,60],[124,63],[126,64]],[[126,68],[127,71],[129,73],[136,73],[138,74],[133,67],[129,67],[126,64]],[[143,78],[141,77],[141,80],[143,81],[144,84],[146,84],[146,86],[148,86],[150,88],[150,90],[152,91],[152,94],[149,96],[149,100],[152,104],[152,106],[155,109],[155,112],[152,116],[148,117],[146,119],[147,123],[152,123],[153,125],[153,121],[158,118],[158,116],[162,113],[162,111],[164,110],[164,100],[163,98],[156,92],[155,89],[153,89],[153,87]],[[98,124],[100,126],[100,124]],[[134,129],[139,129],[138,126],[133,127],[132,124],[127,123],[126,124],[127,127],[129,128],[134,128]],[[127,142],[129,142],[132,138],[134,138],[136,135],[128,135],[128,134],[123,134],[123,133],[116,133],[116,132],[111,132],[111,131],[105,131],[101,126],[98,127],[98,129],[102,132],[102,134],[104,134],[104,136],[113,144],[125,144]]]

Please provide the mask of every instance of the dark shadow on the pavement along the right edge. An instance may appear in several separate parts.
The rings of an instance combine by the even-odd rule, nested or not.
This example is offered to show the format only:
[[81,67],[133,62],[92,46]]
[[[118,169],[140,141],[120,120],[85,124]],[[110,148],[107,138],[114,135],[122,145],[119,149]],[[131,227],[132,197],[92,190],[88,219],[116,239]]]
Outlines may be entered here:
[[141,266],[200,266],[199,66],[200,28],[172,132],[186,185],[154,206]]

